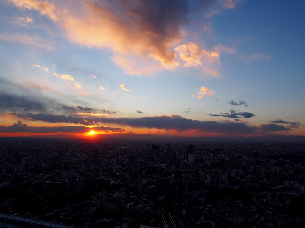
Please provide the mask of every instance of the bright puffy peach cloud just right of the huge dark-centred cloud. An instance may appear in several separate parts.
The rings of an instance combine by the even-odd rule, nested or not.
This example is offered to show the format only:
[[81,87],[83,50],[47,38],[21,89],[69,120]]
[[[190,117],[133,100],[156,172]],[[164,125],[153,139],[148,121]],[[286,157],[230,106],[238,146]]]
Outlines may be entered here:
[[199,47],[198,44],[189,42],[187,44],[179,45],[174,49],[179,53],[179,57],[181,60],[185,61],[183,67],[198,67],[202,66],[201,58],[205,56],[208,60],[218,60],[219,53],[218,52],[206,52]]

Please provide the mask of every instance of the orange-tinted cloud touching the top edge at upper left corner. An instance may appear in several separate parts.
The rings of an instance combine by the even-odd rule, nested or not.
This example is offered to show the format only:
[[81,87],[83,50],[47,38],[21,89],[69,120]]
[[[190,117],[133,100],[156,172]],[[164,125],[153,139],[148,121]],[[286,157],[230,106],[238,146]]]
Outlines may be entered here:
[[52,3],[48,1],[35,1],[35,0],[9,0],[13,2],[18,7],[23,7],[26,9],[38,10],[41,15],[47,15],[53,20],[57,20],[56,9]]

